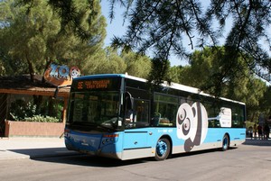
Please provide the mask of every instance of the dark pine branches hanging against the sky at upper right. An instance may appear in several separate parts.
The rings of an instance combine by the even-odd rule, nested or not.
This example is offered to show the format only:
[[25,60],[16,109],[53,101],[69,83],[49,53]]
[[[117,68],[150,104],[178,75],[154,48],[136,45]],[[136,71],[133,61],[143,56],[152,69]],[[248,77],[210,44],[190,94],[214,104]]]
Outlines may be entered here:
[[[216,46],[220,38],[225,38],[224,53],[217,59],[219,71],[211,72],[210,86],[214,94],[220,95],[225,81],[238,78],[238,70],[242,71],[242,68],[270,80],[271,64],[267,51],[271,44],[270,1],[118,0],[111,1],[112,18],[117,3],[126,7],[125,17],[129,18],[125,36],[113,40],[117,47],[139,52],[153,50],[155,59],[169,59],[173,54],[185,58],[188,46],[183,40],[189,41],[191,49],[195,46],[204,49]],[[225,31],[228,23],[232,23],[229,33]],[[240,57],[245,61],[241,67]],[[202,66],[208,68],[208,65]],[[161,75],[156,76],[159,79]]]

